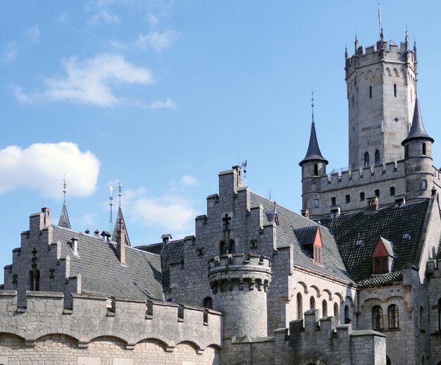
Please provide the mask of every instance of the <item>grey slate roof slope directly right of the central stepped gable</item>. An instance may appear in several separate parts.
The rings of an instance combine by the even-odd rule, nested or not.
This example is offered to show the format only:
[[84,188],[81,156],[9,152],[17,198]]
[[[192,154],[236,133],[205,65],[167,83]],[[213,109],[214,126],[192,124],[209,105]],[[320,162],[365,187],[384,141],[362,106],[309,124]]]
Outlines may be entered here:
[[[273,209],[273,202],[270,202],[263,197],[259,197],[259,195],[250,193],[250,200],[251,206],[262,204],[264,210]],[[299,214],[283,208],[280,205],[277,206],[277,215],[279,219],[279,225],[277,227],[277,247],[282,248],[292,245],[292,259],[294,266],[299,266],[300,268],[305,268],[309,271],[316,271],[349,283],[354,283],[354,280],[344,267],[342,257],[337,248],[337,242],[329,232],[328,228],[320,226],[323,241],[322,264],[317,265],[313,263],[311,256],[304,252],[302,244],[299,242],[297,235],[294,232],[301,234],[298,231],[302,229],[311,229],[311,227],[316,230],[319,225],[304,216],[300,216]]]

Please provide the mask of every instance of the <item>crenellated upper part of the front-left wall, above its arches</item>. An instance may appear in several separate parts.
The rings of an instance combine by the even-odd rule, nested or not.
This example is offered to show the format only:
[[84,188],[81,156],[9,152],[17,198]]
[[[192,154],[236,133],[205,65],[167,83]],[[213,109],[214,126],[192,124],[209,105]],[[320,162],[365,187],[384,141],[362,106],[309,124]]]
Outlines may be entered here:
[[192,342],[199,351],[221,346],[222,314],[184,304],[156,300],[136,301],[97,294],[73,293],[73,308],[63,305],[61,292],[26,293],[26,307],[17,307],[17,292],[0,291],[0,332],[25,339],[34,347],[38,338],[64,334],[77,340],[79,348],[100,336],[113,336],[125,349],[147,338],[165,343],[173,352],[180,342]]

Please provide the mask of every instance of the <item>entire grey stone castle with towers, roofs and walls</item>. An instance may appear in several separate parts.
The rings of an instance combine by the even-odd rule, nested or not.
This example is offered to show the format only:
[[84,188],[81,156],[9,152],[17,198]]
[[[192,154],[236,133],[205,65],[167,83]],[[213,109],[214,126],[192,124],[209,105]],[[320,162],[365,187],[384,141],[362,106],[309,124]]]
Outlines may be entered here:
[[314,120],[302,215],[219,173],[195,235],[131,247],[30,216],[0,290],[0,364],[441,364],[440,171],[416,47],[345,52],[349,169]]

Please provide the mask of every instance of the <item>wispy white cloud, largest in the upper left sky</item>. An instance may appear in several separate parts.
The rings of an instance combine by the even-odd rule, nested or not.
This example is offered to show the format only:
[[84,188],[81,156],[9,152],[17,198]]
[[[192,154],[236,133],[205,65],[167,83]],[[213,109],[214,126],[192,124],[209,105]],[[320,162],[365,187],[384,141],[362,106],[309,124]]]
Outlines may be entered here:
[[25,94],[20,87],[15,87],[15,97],[18,101],[44,99],[114,106],[123,99],[116,97],[111,86],[118,82],[144,85],[153,82],[149,69],[133,66],[118,54],[98,54],[85,61],[68,58],[63,64],[67,76],[46,78],[44,80],[46,89],[43,92]]

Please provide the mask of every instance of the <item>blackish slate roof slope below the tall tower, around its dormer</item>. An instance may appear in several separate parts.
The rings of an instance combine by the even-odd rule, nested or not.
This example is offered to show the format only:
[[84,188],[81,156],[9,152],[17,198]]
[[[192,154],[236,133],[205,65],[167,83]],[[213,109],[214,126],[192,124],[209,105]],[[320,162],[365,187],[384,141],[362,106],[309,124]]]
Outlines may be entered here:
[[[321,224],[333,233],[344,264],[356,283],[385,285],[401,281],[404,268],[418,265],[428,204],[425,201],[369,213],[342,214],[338,218],[321,219]],[[409,239],[404,237],[406,233]],[[395,259],[390,273],[373,274],[372,254],[380,237],[392,242]]]

